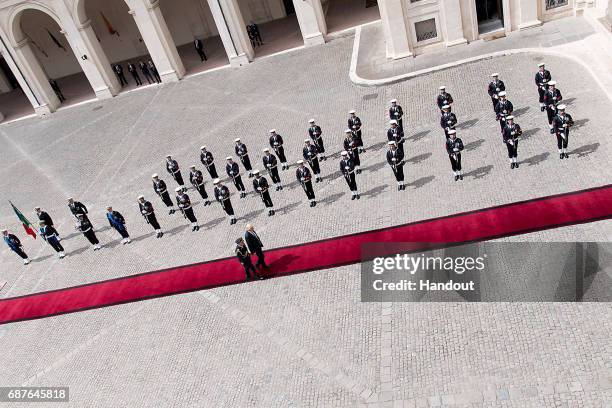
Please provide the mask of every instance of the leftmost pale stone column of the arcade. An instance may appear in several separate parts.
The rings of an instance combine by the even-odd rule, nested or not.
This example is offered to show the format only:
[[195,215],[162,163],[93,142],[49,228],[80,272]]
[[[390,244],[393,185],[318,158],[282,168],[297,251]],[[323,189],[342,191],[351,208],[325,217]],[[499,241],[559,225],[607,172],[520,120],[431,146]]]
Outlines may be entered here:
[[[20,81],[20,85],[24,86],[24,92],[28,95],[36,114],[46,116],[57,110],[61,104],[60,100],[55,95],[49,84],[47,74],[45,74],[38,58],[36,58],[30,40],[25,38],[17,44],[11,44],[11,46],[15,64],[19,66],[19,69],[13,72],[21,72],[23,75],[23,83]],[[9,62],[9,59],[7,59],[7,62]]]

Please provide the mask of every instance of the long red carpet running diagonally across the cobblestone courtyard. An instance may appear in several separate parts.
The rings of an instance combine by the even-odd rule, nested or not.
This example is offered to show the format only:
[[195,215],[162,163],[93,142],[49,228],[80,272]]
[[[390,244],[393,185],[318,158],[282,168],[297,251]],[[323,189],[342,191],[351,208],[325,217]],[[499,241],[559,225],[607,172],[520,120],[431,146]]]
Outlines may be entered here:
[[[609,218],[612,218],[612,185],[272,249],[266,252],[266,261],[271,266],[266,276],[278,277],[358,263],[361,244],[364,243],[483,241]],[[418,250],[418,245],[415,250]],[[218,259],[3,299],[0,300],[0,324],[242,281],[244,272],[237,260]]]

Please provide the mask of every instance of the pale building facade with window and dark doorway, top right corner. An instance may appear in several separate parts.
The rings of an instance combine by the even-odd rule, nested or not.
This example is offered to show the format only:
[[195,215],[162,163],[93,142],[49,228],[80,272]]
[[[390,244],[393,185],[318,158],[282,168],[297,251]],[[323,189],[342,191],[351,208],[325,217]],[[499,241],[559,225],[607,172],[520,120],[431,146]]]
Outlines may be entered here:
[[[609,0],[379,0],[387,57],[493,39]],[[605,10],[605,9],[604,9]]]

